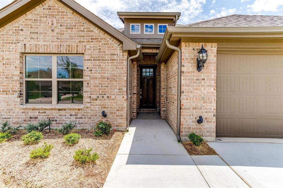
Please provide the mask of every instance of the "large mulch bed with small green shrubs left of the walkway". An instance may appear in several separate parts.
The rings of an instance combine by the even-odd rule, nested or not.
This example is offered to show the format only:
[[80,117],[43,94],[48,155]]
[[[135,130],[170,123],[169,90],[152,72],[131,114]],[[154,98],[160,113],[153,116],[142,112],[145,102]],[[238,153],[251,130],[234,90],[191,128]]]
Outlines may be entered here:
[[[78,144],[68,146],[63,135],[51,130],[43,131],[39,144],[25,146],[18,131],[11,139],[0,144],[0,187],[102,187],[121,144],[124,132],[111,131],[97,138],[94,130],[72,130],[82,138]],[[47,159],[30,159],[30,150],[53,144],[54,148]],[[93,148],[99,159],[95,164],[80,165],[73,159],[78,149]]]

